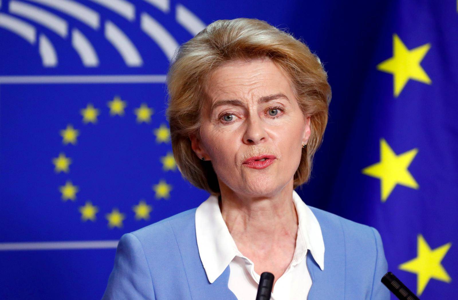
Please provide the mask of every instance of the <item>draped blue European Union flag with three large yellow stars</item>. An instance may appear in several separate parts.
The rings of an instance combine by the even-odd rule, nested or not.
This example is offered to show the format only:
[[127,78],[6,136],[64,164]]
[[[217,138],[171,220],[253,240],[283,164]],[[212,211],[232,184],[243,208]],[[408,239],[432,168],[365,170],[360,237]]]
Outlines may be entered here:
[[[380,24],[382,25],[382,24]],[[456,297],[457,3],[396,1],[360,83],[329,209],[379,230],[420,299]],[[335,100],[334,100],[335,101]],[[380,280],[380,279],[377,279]]]

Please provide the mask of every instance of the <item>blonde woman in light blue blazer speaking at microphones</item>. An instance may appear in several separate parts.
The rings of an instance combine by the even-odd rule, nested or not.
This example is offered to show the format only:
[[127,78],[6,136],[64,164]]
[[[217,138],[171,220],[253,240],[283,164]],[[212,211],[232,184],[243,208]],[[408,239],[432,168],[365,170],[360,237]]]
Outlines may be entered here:
[[304,43],[256,19],[219,20],[169,73],[174,157],[211,196],[121,237],[104,299],[389,299],[381,237],[304,204],[331,89]]

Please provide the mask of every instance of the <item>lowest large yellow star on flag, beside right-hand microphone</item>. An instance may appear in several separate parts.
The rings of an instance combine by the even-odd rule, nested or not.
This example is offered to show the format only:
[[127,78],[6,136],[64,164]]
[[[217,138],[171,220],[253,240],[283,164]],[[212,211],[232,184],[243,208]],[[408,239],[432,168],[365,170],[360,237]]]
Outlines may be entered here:
[[431,250],[422,235],[417,236],[417,257],[399,265],[399,269],[417,274],[417,295],[426,288],[431,278],[449,283],[452,281],[445,268],[442,259],[447,254],[452,243],[447,243]]

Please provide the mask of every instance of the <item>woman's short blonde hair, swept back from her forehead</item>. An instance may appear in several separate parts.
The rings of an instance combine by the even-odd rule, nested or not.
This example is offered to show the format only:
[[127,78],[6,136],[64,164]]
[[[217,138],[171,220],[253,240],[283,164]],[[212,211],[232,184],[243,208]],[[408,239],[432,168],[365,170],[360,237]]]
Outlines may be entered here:
[[327,125],[331,87],[318,57],[300,40],[266,21],[248,18],[218,20],[176,52],[167,74],[167,118],[176,164],[194,186],[219,195],[211,161],[200,160],[191,149],[191,135],[200,138],[205,81],[218,66],[231,60],[270,58],[289,75],[304,116],[311,117],[311,135],[298,169],[294,188],[308,182],[313,156]]

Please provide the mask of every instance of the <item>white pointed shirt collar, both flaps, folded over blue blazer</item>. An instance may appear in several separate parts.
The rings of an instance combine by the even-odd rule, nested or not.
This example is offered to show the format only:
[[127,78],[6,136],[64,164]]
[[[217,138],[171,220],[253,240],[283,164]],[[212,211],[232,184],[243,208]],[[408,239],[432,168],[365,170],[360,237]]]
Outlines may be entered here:
[[[293,264],[299,263],[310,250],[316,263],[324,270],[324,241],[318,220],[311,209],[293,190],[293,202],[299,220]],[[211,195],[196,209],[196,240],[199,256],[210,283],[240,255],[219,209],[218,197]]]

